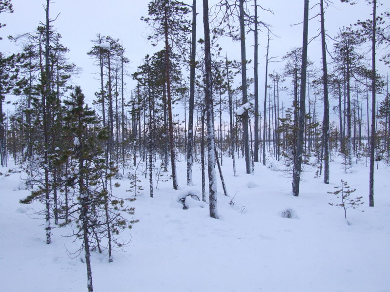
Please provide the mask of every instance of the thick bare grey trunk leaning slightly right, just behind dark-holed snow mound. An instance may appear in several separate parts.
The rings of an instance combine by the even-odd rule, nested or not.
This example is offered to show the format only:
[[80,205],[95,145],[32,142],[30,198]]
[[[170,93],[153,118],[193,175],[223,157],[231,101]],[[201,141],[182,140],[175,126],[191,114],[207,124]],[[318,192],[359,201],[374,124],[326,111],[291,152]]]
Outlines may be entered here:
[[303,43],[302,43],[302,69],[301,69],[301,92],[298,120],[298,138],[294,159],[294,172],[292,177],[292,195],[299,195],[299,182],[301,178],[303,135],[305,130],[305,97],[306,97],[306,72],[308,63],[308,10],[309,0],[305,0],[304,21],[303,21]]

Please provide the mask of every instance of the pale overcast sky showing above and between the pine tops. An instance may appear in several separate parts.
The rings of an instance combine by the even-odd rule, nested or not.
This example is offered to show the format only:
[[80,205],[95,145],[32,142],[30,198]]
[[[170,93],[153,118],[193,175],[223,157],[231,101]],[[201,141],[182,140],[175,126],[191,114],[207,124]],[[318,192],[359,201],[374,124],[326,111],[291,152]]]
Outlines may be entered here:
[[[43,4],[45,0],[12,0],[15,12],[13,14],[1,14],[0,22],[7,26],[0,29],[0,41],[2,52],[15,52],[19,49],[10,43],[6,36],[17,36],[25,32],[34,32],[40,21],[44,21],[45,12]],[[91,49],[91,40],[95,39],[96,34],[101,33],[112,38],[120,39],[126,49],[126,57],[130,59],[131,64],[128,71],[134,72],[141,64],[146,54],[153,54],[157,48],[152,47],[146,40],[150,33],[146,24],[140,20],[142,16],[147,16],[147,4],[149,0],[53,0],[50,4],[50,15],[54,19],[53,25],[62,35],[62,43],[70,49],[68,58],[71,62],[83,69],[79,78],[73,78],[74,84],[81,85],[83,92],[90,100],[94,98],[94,92],[99,90],[98,68],[93,65],[93,60],[86,53]],[[192,0],[184,0],[185,3],[192,4]],[[210,5],[217,0],[209,0]],[[259,11],[259,18],[272,25],[273,32],[278,37],[273,37],[270,43],[270,55],[282,57],[289,49],[302,46],[302,25],[290,26],[303,20],[303,0],[258,0],[265,8],[271,9],[274,14],[265,11]],[[314,6],[318,0],[310,0],[310,7]],[[370,16],[370,7],[365,0],[360,0],[357,5],[341,3],[340,0],[334,0],[334,4],[328,8],[326,14],[326,28],[328,34],[334,37],[339,28],[355,23],[357,19],[368,19]],[[390,0],[383,0],[384,7],[381,10],[390,8]],[[202,0],[198,0],[198,33],[197,38],[203,38]],[[386,7],[387,6],[387,7]],[[319,5],[313,7],[310,11],[310,17],[319,12]],[[319,19],[313,19],[309,23],[309,38],[318,34],[320,27]],[[253,37],[248,35],[246,45],[246,56],[253,58]],[[259,35],[260,48],[259,53],[259,74],[260,93],[264,95],[264,63],[267,35],[263,31]],[[221,40],[224,54],[228,58],[240,58],[240,44],[231,42],[228,39]],[[331,49],[331,46],[329,47]],[[315,65],[321,64],[320,39],[310,43],[308,48],[309,58]],[[379,54],[381,54],[379,52]],[[378,55],[379,55],[378,54]],[[379,59],[379,58],[378,58]],[[274,63],[269,67],[269,72],[283,67],[282,63]],[[380,65],[380,70],[384,74],[387,68]],[[252,76],[252,69],[248,69],[248,77]],[[94,79],[95,78],[95,79]],[[127,94],[134,85],[131,78],[126,80],[128,83]]]

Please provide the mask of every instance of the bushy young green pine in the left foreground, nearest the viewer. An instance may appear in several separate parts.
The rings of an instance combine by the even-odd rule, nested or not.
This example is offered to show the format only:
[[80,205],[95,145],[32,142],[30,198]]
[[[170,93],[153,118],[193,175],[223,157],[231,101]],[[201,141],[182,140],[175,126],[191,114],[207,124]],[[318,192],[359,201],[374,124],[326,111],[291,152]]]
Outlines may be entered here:
[[[73,209],[69,212],[69,222],[74,235],[82,240],[87,266],[87,287],[92,292],[92,271],[90,252],[95,248],[102,252],[109,251],[112,261],[112,247],[123,247],[117,236],[126,228],[131,228],[137,220],[131,220],[126,214],[133,215],[134,208],[125,204],[126,200],[112,195],[107,189],[106,181],[117,172],[113,163],[105,163],[103,149],[100,145],[107,134],[99,125],[95,112],[84,104],[84,95],[76,87],[69,100],[64,101],[67,114],[64,117],[64,131],[73,141],[70,149],[64,151],[62,160],[69,161],[69,174],[66,184],[73,190],[76,198]],[[133,201],[128,199],[127,201]],[[65,225],[64,224],[64,225]]]

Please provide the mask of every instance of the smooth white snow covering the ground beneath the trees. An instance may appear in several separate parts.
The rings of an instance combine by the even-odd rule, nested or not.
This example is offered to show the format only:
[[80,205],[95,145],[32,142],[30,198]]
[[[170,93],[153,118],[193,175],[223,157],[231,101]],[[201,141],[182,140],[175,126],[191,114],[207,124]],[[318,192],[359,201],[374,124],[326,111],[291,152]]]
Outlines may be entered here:
[[[93,253],[96,292],[390,292],[390,169],[375,169],[375,207],[368,206],[368,168],[354,164],[344,174],[331,163],[330,184],[305,173],[299,197],[290,195],[291,183],[280,172],[255,165],[246,175],[238,161],[232,175],[231,160],[223,171],[229,197],[218,185],[220,218],[208,215],[208,205],[187,198],[188,210],[177,203],[185,186],[185,162],[178,163],[180,190],[160,181],[154,198],[148,183],[132,203],[140,220],[123,232],[130,244],[113,254]],[[6,169],[0,169],[5,172]],[[80,242],[72,242],[67,228],[53,230],[45,244],[43,220],[34,220],[34,208],[21,205],[29,194],[19,190],[19,174],[0,177],[0,291],[84,292],[86,269],[80,255],[71,255]],[[348,181],[363,196],[364,212],[348,209],[344,219],[332,192]],[[116,194],[131,195],[130,180],[119,181]],[[192,187],[200,192],[199,165],[194,165]],[[229,202],[234,196],[232,206]],[[192,201],[191,201],[192,200]],[[293,218],[283,218],[291,210]],[[29,215],[30,214],[30,215]],[[30,218],[32,217],[32,218]],[[68,250],[68,252],[67,252]],[[76,258],[71,258],[76,257]]]

